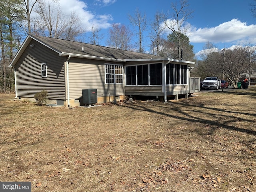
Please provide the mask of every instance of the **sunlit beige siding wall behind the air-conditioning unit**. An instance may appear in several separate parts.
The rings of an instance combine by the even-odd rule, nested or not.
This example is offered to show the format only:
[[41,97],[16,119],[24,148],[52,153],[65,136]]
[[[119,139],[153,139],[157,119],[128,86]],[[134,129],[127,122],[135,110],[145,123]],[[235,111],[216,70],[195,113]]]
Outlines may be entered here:
[[97,89],[98,97],[124,95],[123,84],[105,84],[105,63],[110,61],[70,58],[68,64],[70,99],[80,98],[83,89]]

